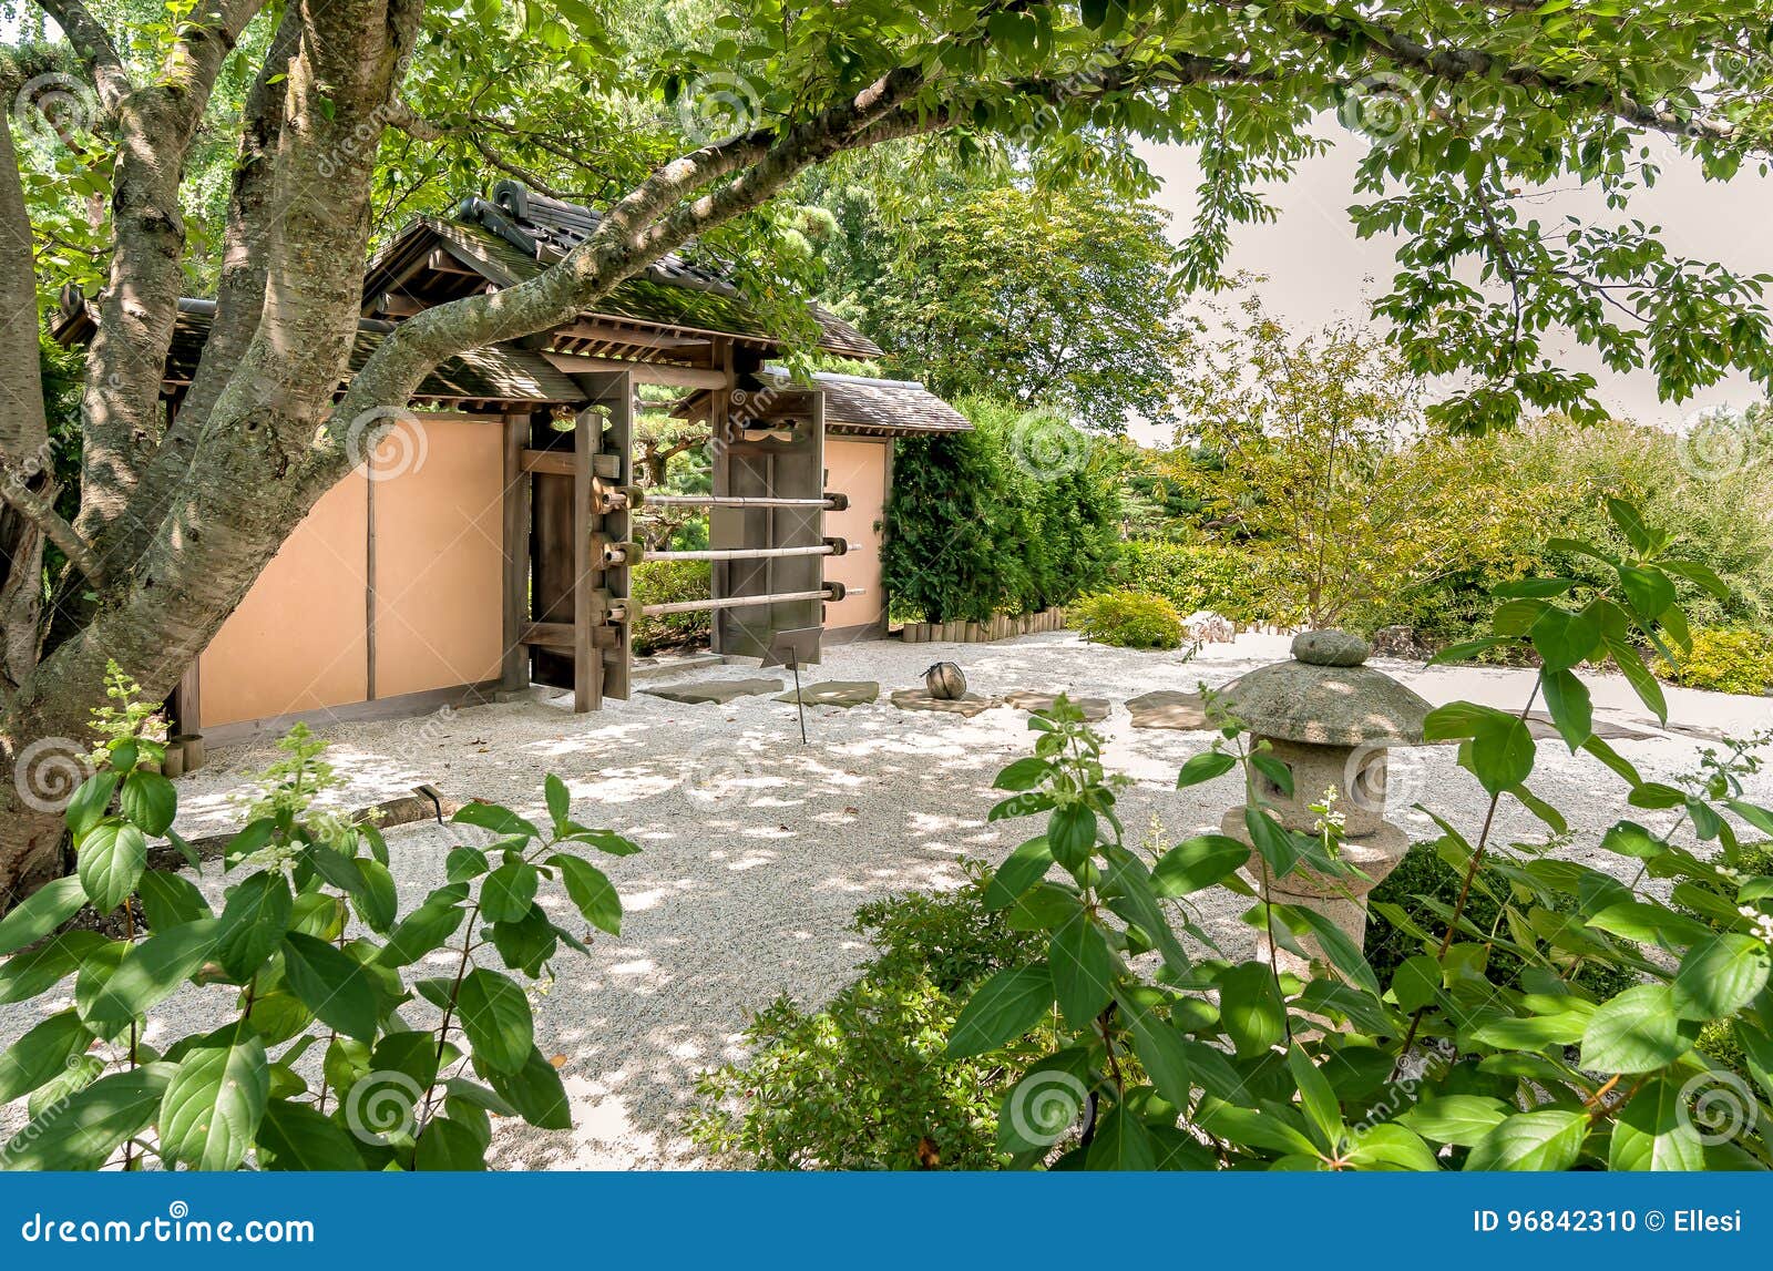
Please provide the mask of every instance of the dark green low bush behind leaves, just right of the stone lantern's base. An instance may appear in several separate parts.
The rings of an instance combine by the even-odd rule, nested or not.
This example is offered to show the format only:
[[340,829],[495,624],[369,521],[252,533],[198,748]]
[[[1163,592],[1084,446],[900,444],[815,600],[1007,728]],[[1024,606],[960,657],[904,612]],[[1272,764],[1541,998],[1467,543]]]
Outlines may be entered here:
[[[1440,936],[1447,931],[1445,916],[1457,902],[1463,886],[1464,870],[1443,860],[1438,844],[1418,842],[1411,844],[1390,877],[1372,888],[1369,897],[1372,920],[1367,927],[1367,963],[1372,964],[1379,984],[1390,984],[1392,975],[1395,975],[1406,959],[1424,952],[1422,943],[1406,925],[1390,920],[1386,908],[1395,906],[1410,924]],[[1507,895],[1509,883],[1495,870],[1480,869],[1472,885],[1472,895],[1464,902],[1464,920],[1479,931],[1495,931],[1500,940],[1509,940],[1511,931],[1502,918],[1502,904]],[[1574,902],[1569,902],[1567,908],[1574,909]],[[1470,938],[1470,932],[1464,938]],[[1617,966],[1601,963],[1573,966],[1567,954],[1555,954],[1553,961],[1564,963],[1558,970],[1566,977],[1574,970],[1573,982],[1601,1002],[1624,993],[1638,982],[1631,971]],[[1525,963],[1514,952],[1495,945],[1489,948],[1488,971],[1491,982],[1516,984],[1521,970],[1525,970]]]

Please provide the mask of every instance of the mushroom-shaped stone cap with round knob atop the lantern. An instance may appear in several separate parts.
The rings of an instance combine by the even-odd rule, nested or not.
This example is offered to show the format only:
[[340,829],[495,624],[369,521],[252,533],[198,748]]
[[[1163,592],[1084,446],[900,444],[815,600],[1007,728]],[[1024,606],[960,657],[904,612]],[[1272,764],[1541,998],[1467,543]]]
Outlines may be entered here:
[[1262,737],[1316,746],[1422,745],[1433,707],[1365,659],[1367,642],[1358,635],[1301,631],[1291,661],[1239,675],[1225,686],[1225,702]]

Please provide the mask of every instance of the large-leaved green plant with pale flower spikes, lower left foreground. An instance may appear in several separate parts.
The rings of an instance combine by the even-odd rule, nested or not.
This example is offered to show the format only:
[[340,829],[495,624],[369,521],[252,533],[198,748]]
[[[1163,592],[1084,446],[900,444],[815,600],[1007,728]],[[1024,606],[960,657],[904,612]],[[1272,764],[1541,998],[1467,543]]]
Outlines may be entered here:
[[[113,686],[105,762],[67,808],[78,872],[0,920],[0,1002],[66,996],[59,986],[74,980],[73,1005],[0,1055],[0,1101],[30,1096],[0,1166],[479,1170],[489,1113],[571,1124],[525,986],[550,979],[560,945],[585,945],[537,895],[560,879],[587,924],[615,932],[615,890],[580,853],[638,847],[573,821],[550,776],[546,826],[491,803],[461,808],[470,835],[449,881],[402,908],[374,824],[312,808],[328,784],[321,745],[293,734],[225,849],[215,909],[184,874],[149,869],[151,838],[199,862],[172,830],[152,707]],[[121,911],[126,938],[57,932],[87,904]],[[436,954],[450,973],[408,970]],[[232,1018],[151,1046],[149,1012],[184,984],[232,987]]]

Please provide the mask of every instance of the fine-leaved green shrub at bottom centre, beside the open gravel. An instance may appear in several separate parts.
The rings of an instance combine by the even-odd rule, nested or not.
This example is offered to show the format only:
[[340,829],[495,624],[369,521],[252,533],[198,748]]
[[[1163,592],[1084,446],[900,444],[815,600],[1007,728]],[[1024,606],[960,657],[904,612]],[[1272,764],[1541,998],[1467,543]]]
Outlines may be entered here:
[[961,1002],[1041,941],[957,892],[913,892],[856,911],[879,954],[817,1012],[782,996],[745,1030],[752,1055],[702,1076],[691,1138],[766,1170],[991,1170],[996,1106],[1021,1072],[1009,1044],[943,1057]]

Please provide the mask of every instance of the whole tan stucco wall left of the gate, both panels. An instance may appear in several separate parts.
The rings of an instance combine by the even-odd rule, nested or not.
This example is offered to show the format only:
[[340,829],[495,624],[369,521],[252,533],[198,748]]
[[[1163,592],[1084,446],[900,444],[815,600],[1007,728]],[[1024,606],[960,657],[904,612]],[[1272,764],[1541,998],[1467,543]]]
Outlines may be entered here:
[[[502,438],[426,420],[330,489],[199,661],[200,727],[369,698],[369,523],[376,698],[498,677]],[[374,484],[374,489],[371,486]]]

